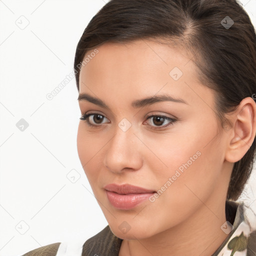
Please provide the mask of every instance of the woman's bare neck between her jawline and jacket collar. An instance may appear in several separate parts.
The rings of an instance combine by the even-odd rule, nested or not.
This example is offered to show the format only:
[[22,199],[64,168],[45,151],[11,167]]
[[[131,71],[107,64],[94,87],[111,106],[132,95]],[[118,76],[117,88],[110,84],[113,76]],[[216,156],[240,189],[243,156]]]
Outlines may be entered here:
[[119,256],[210,256],[228,234],[220,226],[226,221],[222,202],[202,203],[193,215],[161,233],[140,240],[123,240]]

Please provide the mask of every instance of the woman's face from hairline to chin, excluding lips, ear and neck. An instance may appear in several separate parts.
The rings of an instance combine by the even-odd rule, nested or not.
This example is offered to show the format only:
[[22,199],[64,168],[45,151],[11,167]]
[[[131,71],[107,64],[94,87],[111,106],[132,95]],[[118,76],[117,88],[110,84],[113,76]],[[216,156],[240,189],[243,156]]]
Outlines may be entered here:
[[[87,121],[95,126],[80,120],[77,150],[112,232],[122,239],[162,232],[205,205],[215,217],[225,201],[227,133],[218,132],[213,92],[198,82],[183,52],[149,40],[105,43],[86,52],[79,93],[109,108],[81,97],[81,114],[94,113]],[[132,104],[161,95],[179,100]],[[123,209],[110,203],[104,189],[109,183],[160,192]]]

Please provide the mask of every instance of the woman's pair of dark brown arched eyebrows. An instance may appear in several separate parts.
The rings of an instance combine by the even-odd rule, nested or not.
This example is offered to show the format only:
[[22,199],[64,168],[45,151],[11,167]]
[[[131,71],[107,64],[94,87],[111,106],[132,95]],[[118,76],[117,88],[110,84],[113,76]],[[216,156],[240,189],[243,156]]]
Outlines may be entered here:
[[[87,100],[93,104],[102,106],[102,107],[110,110],[110,107],[108,105],[106,105],[101,99],[95,98],[87,93],[79,93],[77,100]],[[161,102],[161,101],[173,101],[173,102],[181,102],[181,103],[188,104],[186,101],[184,101],[181,98],[174,98],[173,96],[170,96],[167,94],[162,94],[162,95],[158,95],[158,96],[151,96],[151,97],[134,100],[131,102],[131,106],[133,108],[138,108],[138,107],[142,107],[145,105],[151,105],[153,103]]]

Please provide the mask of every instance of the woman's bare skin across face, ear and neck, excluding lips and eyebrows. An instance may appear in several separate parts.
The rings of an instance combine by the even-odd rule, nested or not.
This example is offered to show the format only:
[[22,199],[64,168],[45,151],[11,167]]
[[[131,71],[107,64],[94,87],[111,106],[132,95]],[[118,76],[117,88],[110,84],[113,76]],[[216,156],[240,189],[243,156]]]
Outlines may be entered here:
[[[110,109],[79,100],[81,114],[96,112],[103,118],[96,122],[96,115],[89,117],[96,127],[80,120],[77,150],[111,231],[123,239],[119,256],[211,255],[227,236],[220,226],[226,221],[233,163],[255,136],[254,100],[244,98],[228,115],[233,126],[219,130],[213,92],[199,83],[196,67],[182,49],[150,40],[105,43],[97,49],[81,68],[79,92],[101,99]],[[169,74],[175,66],[183,73],[177,80]],[[131,106],[133,100],[163,93],[186,103]],[[151,114],[176,121],[159,124],[148,118]],[[123,118],[131,124],[126,131],[118,126]],[[190,157],[191,164],[172,178]],[[166,186],[168,178],[173,182]],[[103,186],[108,183],[153,190],[165,184],[165,190],[154,201],[120,210],[107,199]],[[118,228],[123,221],[130,227],[126,233]]]

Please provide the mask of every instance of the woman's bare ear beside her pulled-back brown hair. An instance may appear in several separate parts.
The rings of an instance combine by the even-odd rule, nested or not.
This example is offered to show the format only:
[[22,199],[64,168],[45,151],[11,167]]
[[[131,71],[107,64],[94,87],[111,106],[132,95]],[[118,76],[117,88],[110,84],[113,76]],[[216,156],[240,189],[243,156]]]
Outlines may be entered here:
[[250,148],[256,133],[256,103],[251,97],[241,100],[231,115],[234,124],[228,131],[225,160],[239,161]]

